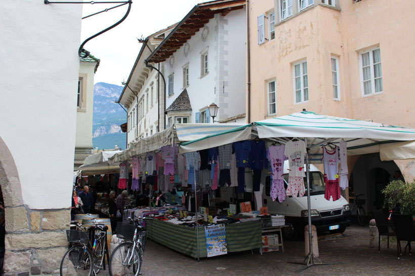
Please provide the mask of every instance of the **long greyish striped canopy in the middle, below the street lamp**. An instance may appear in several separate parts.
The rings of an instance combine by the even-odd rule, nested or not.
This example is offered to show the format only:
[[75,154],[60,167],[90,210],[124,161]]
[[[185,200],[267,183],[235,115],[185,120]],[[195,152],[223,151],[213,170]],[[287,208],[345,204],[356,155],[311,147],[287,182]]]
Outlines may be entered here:
[[[243,124],[175,124],[163,131],[157,132],[149,137],[141,138],[122,152],[108,158],[109,164],[115,164],[131,159],[133,156],[142,155],[146,152],[158,150],[163,146],[173,143],[197,140],[210,135],[224,134],[229,130],[244,126]],[[249,126],[249,125],[246,125]],[[241,137],[243,140],[249,139]],[[224,139],[225,136],[221,136]],[[229,143],[232,143],[232,138]],[[239,141],[239,140],[238,140]]]

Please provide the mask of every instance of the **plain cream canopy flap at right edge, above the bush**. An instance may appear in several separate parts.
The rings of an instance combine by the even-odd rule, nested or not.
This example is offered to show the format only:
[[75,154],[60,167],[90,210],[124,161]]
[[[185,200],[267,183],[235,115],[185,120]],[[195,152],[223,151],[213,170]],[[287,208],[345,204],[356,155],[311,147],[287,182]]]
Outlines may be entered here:
[[415,159],[415,141],[381,145],[381,160]]

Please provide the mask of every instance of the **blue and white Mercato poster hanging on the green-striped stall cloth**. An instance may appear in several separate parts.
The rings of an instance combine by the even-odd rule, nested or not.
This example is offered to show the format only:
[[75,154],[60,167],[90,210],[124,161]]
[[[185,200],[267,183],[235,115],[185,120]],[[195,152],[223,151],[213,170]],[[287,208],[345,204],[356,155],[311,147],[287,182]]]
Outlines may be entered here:
[[204,232],[208,257],[228,254],[224,224],[205,226]]

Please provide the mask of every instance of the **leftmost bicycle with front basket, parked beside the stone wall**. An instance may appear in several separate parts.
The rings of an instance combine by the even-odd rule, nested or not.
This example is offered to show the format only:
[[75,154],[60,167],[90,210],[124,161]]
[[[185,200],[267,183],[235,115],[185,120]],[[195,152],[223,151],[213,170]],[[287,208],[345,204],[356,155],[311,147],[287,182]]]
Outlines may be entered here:
[[67,230],[70,248],[63,255],[60,275],[95,275],[105,270],[105,255],[108,258],[108,227],[95,223],[88,229],[76,223],[76,230]]

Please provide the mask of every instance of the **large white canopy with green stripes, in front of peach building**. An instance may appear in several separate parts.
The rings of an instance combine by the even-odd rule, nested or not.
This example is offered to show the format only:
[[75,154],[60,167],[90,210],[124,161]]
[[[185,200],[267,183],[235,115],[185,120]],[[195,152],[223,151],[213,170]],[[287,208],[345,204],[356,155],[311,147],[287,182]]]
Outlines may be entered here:
[[[336,144],[342,139],[347,142],[348,155],[379,152],[381,145],[415,140],[415,130],[411,128],[303,111],[184,142],[180,144],[179,150],[180,152],[195,151],[240,141],[243,140],[243,137],[249,137],[251,131],[253,136],[277,141],[281,144],[285,144],[293,137],[309,138],[307,139],[307,147],[310,149],[312,162],[321,160],[322,145]],[[413,144],[408,146],[410,147],[410,145],[412,145],[412,150],[415,150]]]

